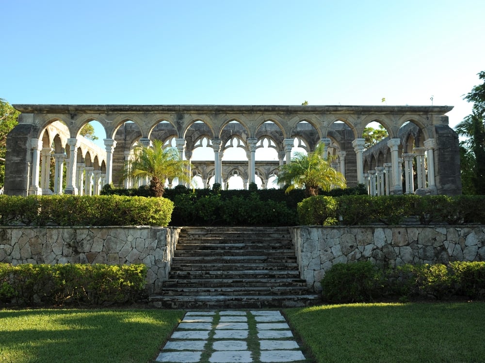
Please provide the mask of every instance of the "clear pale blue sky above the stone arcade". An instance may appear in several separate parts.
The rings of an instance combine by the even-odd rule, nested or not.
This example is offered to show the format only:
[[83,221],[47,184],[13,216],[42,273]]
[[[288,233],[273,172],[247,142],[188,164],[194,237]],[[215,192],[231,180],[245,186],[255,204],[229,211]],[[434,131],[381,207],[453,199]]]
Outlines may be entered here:
[[485,1],[0,0],[11,104],[451,105]]

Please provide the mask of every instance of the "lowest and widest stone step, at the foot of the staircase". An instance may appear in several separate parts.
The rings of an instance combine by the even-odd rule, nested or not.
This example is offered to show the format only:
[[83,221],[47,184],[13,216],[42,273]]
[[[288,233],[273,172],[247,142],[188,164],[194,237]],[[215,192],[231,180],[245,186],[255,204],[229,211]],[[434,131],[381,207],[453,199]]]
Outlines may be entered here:
[[321,303],[318,295],[253,295],[253,296],[163,296],[152,295],[148,301],[152,306],[168,309],[218,309],[228,307],[285,308],[303,307]]

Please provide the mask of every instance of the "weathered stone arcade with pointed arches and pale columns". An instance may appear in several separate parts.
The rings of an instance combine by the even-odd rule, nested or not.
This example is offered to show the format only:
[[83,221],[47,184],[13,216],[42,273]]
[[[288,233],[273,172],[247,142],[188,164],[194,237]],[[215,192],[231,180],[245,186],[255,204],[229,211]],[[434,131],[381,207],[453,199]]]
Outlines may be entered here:
[[[291,149],[295,139],[305,144],[307,151],[313,151],[322,142],[326,146],[325,155],[338,158],[335,167],[345,175],[348,185],[358,182],[377,188],[379,177],[388,181],[390,194],[403,193],[401,156],[413,153],[414,147],[424,148],[424,156],[409,156],[420,159],[418,189],[428,194],[460,194],[458,137],[448,126],[445,116],[452,106],[224,106],[224,105],[14,105],[21,112],[19,125],[7,137],[5,166],[5,193],[9,195],[42,194],[36,187],[39,177],[31,174],[31,166],[37,165],[40,146],[38,140],[43,130],[52,122],[61,121],[69,131],[65,145],[69,152],[69,167],[66,175],[65,193],[79,194],[81,189],[76,177],[80,168],[77,158],[79,132],[83,125],[98,121],[106,132],[106,177],[105,182],[114,181],[115,170],[129,158],[134,143],[149,145],[150,138],[158,133],[162,141],[172,140],[181,156],[190,160],[199,146],[201,138],[210,141],[213,149],[213,168],[205,165],[194,169],[202,180],[213,176],[216,182],[226,178],[222,156],[226,141],[238,138],[246,151],[248,182],[258,175],[264,178],[266,171],[256,168],[255,151],[264,138],[272,142],[271,147],[278,153],[278,163],[290,162]],[[377,121],[388,132],[388,148],[376,167],[384,167],[383,160],[390,166],[383,175],[370,178],[364,175],[364,139],[362,133],[369,122]],[[418,132],[413,137],[400,138],[399,131],[407,122]],[[199,127],[200,125],[203,127]],[[164,125],[163,127],[159,127]],[[134,126],[134,127],[132,127]],[[166,126],[166,127],[165,127]],[[125,130],[136,129],[128,134]],[[131,138],[129,138],[131,137]],[[175,140],[173,140],[175,139]],[[426,159],[426,160],[425,160]],[[372,163],[372,161],[371,161]],[[82,164],[82,162],[81,162]],[[413,178],[409,160],[405,167],[404,179]],[[427,168],[425,168],[427,166]],[[82,168],[82,165],[80,166]],[[369,170],[373,167],[369,167]],[[35,168],[33,169],[35,171]],[[230,173],[230,172],[229,172]],[[276,171],[270,171],[275,175]],[[387,179],[384,174],[388,174]],[[242,174],[242,173],[240,173]],[[372,173],[371,173],[372,174]],[[32,176],[32,177],[31,177]],[[32,182],[29,184],[28,179]],[[407,182],[406,192],[414,191],[414,183]],[[32,188],[29,189],[29,186]],[[386,189],[387,190],[387,189]]]

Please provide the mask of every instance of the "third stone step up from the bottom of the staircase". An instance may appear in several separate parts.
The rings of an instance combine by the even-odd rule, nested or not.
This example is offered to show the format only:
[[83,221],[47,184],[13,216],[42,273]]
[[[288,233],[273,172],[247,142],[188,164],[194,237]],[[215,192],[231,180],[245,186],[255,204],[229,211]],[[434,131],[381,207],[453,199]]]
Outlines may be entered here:
[[299,278],[275,279],[173,279],[163,283],[165,287],[272,287],[272,286],[301,286],[306,287],[306,281]]

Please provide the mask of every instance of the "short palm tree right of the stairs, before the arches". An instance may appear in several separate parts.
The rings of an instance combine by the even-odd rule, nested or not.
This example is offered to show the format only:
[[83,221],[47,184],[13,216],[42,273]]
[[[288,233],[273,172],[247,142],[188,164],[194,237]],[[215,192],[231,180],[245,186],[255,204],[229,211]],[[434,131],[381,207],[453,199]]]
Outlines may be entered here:
[[290,164],[280,166],[276,182],[290,184],[286,193],[303,187],[306,196],[310,197],[318,195],[319,189],[345,188],[345,177],[330,166],[330,160],[323,159],[323,148],[324,144],[319,144],[308,155],[295,152]]

